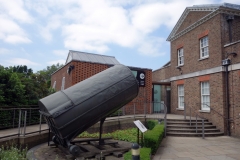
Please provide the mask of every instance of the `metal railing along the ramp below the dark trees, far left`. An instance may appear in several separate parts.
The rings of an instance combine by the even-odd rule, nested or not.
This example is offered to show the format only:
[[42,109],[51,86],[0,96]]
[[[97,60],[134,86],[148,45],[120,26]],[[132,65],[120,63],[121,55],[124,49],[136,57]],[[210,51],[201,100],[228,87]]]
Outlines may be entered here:
[[[2,133],[2,135],[0,136],[0,139],[11,136],[26,136],[33,133],[40,134],[42,131],[48,130],[42,128],[42,124],[44,123],[46,122],[42,119],[38,107],[1,107],[0,134]],[[38,125],[38,129],[36,129],[35,125]],[[27,128],[32,131],[27,132]],[[10,134],[6,129],[9,130]]]

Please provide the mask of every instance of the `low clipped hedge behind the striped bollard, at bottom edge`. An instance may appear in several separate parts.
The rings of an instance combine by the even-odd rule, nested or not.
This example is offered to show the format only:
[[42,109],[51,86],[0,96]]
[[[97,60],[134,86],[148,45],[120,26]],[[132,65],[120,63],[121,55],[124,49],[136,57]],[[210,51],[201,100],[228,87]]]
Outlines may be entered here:
[[[151,148],[140,148],[140,159],[151,160]],[[131,151],[124,154],[124,160],[132,160]]]

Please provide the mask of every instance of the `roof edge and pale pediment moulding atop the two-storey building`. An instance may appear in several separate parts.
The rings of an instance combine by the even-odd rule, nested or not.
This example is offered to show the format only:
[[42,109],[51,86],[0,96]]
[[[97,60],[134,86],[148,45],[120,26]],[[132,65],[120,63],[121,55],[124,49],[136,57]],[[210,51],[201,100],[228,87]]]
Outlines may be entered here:
[[[174,26],[172,32],[167,38],[167,41],[172,41],[174,39],[177,39],[178,37],[182,36],[183,34],[189,32],[190,30],[194,29],[195,27],[199,26],[200,24],[204,23],[205,21],[209,20],[210,18],[217,15],[219,10],[221,10],[222,13],[227,14],[238,14],[240,15],[240,12],[230,12],[230,10],[240,11],[240,5],[237,4],[230,4],[230,3],[222,3],[222,4],[203,4],[203,5],[193,5],[192,7],[187,7],[181,17],[179,18],[178,22]],[[184,22],[185,18],[187,17],[188,13],[190,11],[206,11],[209,12],[206,16],[198,20],[197,22],[193,23],[192,25],[185,28],[183,31],[177,33],[179,27]]]

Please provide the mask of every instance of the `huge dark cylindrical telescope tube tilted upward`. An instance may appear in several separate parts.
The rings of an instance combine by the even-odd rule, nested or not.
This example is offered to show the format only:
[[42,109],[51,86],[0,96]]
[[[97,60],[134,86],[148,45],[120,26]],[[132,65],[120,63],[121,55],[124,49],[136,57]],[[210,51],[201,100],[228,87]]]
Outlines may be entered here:
[[110,67],[38,102],[57,141],[68,147],[80,133],[129,103],[138,82],[124,65]]

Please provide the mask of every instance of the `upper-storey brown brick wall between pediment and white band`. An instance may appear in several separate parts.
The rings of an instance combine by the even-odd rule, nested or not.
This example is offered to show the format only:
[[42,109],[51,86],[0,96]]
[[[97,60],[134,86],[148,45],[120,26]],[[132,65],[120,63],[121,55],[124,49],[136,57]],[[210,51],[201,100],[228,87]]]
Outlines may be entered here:
[[[177,49],[180,44],[184,44],[184,65],[181,67],[182,74],[192,73],[204,69],[221,66],[222,48],[221,46],[221,18],[220,15],[196,27],[180,38],[171,42],[171,77],[181,73],[178,66]],[[207,33],[207,34],[206,34]],[[209,39],[209,58],[200,59],[199,36],[208,35]]]

